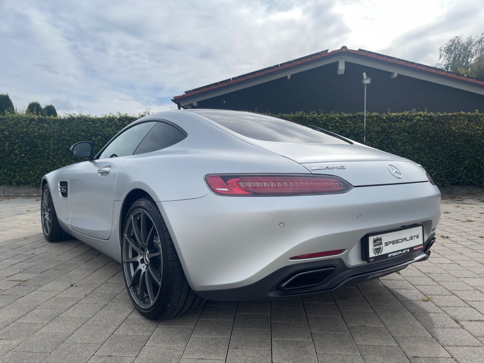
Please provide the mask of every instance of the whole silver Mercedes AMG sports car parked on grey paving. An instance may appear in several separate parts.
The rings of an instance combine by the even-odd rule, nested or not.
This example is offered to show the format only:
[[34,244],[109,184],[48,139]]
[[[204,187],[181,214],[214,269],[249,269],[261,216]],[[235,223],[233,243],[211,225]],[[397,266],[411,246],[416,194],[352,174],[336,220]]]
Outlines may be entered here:
[[314,126],[166,111],[92,149],[43,177],[44,235],[121,262],[147,318],[371,280],[435,241],[440,192],[422,166]]

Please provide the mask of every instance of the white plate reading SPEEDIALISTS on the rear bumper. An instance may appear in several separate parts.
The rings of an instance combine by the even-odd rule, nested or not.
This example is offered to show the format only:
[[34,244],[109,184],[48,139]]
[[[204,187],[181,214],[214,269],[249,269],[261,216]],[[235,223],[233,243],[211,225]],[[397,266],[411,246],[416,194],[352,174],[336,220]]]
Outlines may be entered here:
[[367,262],[398,257],[423,249],[423,226],[368,234],[364,240]]

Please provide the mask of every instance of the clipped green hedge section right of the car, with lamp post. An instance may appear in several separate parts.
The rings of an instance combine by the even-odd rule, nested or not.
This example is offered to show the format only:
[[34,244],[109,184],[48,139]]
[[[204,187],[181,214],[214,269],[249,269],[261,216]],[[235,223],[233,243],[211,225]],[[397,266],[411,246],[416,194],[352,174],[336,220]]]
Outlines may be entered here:
[[[281,117],[363,142],[362,112]],[[439,186],[484,186],[484,113],[367,113],[366,145],[421,164]]]

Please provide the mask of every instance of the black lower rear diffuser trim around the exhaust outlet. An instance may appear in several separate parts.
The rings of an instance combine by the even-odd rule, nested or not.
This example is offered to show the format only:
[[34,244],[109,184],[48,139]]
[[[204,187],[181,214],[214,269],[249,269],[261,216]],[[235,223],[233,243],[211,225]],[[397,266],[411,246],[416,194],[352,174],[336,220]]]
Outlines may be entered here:
[[[370,281],[400,271],[414,262],[425,261],[430,255],[430,246],[434,241],[435,237],[433,234],[425,242],[423,250],[415,251],[405,257],[368,263],[353,268],[348,268],[341,258],[300,263],[283,267],[248,286],[224,290],[197,291],[197,294],[204,299],[217,301],[264,301],[332,291],[347,284]],[[287,281],[313,271],[329,271],[330,273],[321,283],[311,287],[284,288],[284,284]]]

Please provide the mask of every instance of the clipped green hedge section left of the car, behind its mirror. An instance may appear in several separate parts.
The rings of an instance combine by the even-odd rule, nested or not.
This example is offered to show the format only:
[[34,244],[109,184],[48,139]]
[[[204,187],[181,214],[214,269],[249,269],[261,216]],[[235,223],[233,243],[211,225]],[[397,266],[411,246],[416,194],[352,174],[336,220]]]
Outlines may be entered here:
[[65,115],[42,117],[31,113],[0,115],[0,185],[40,186],[42,176],[79,161],[69,149],[92,141],[97,152],[137,117],[128,115]]

